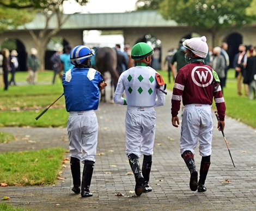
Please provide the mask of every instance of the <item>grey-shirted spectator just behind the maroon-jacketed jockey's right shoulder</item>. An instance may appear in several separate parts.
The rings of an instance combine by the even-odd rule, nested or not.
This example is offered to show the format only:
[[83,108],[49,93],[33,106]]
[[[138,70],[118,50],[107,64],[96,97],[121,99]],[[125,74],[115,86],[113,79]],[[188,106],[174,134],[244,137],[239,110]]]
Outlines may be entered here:
[[224,80],[225,80],[225,59],[223,55],[221,55],[221,47],[215,47],[213,49],[213,60],[212,60],[212,69],[214,69],[217,74],[218,78],[220,78],[220,85],[223,94],[223,87],[224,87]]

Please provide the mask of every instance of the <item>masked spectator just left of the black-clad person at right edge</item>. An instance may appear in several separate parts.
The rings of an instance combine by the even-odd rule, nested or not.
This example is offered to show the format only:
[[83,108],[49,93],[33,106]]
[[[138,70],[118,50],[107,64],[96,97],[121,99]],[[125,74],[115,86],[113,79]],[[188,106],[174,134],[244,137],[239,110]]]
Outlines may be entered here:
[[[235,68],[235,77],[237,80],[237,94],[242,96],[243,75],[245,74],[245,67],[247,64],[247,55],[245,45],[239,45],[239,53],[235,54],[233,66]],[[245,84],[245,95],[248,96],[248,85]]]

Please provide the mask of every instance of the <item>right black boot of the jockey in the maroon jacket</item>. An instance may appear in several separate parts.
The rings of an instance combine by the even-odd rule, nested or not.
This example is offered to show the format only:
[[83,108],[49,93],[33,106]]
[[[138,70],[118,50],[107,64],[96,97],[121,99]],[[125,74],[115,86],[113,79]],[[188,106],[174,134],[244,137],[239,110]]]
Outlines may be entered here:
[[200,166],[200,177],[198,181],[198,192],[205,192],[207,188],[204,186],[205,179],[210,167],[210,156],[202,157]]

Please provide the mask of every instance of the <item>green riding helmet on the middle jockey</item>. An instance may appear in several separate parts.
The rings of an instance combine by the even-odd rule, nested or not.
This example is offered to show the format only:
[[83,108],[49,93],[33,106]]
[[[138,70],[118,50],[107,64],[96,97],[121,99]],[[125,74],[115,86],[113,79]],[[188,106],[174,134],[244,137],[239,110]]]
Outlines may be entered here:
[[138,42],[132,47],[131,58],[134,60],[140,60],[147,58],[154,53],[154,49],[145,42]]

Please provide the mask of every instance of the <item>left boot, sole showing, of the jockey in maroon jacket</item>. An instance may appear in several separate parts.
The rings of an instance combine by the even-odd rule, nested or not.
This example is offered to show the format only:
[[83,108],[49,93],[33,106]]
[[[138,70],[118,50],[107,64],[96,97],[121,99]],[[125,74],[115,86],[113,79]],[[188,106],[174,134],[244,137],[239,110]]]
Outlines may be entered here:
[[185,151],[181,157],[184,159],[188,170],[190,170],[190,189],[192,191],[197,190],[197,179],[198,179],[198,172],[196,169],[196,164],[194,163],[194,155],[190,151]]

